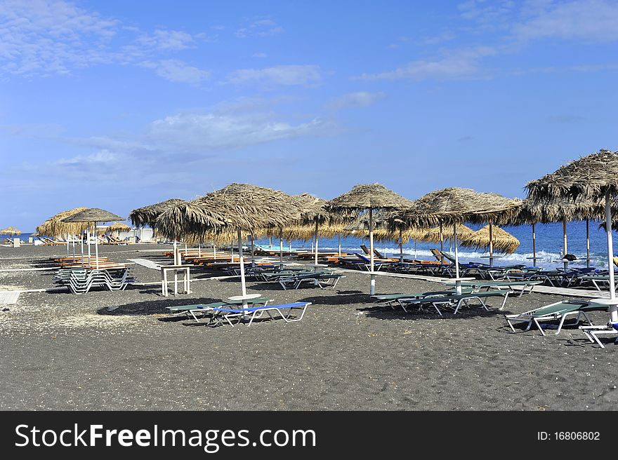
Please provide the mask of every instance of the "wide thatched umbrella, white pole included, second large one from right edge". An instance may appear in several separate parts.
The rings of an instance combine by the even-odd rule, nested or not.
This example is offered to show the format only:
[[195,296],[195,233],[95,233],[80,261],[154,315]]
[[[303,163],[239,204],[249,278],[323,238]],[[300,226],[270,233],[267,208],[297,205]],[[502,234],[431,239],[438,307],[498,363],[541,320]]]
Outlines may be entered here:
[[[521,206],[518,198],[505,198],[499,194],[481,193],[472,189],[456,187],[431,191],[414,202],[414,206],[402,212],[397,220],[407,226],[430,226],[452,224],[455,248],[455,280],[457,292],[461,292],[459,280],[459,252],[457,250],[457,226],[461,222],[475,224],[502,223],[517,215]],[[397,225],[397,222],[394,222]],[[491,262],[491,259],[490,259]]]

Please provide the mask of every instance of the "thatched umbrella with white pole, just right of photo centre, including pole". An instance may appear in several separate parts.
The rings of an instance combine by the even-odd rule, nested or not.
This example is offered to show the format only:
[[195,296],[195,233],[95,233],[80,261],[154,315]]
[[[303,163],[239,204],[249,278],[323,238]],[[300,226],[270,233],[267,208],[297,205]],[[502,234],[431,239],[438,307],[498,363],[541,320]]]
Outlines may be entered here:
[[376,293],[374,276],[374,211],[402,210],[414,203],[384,187],[382,184],[358,184],[352,190],[329,201],[327,209],[334,212],[369,211],[369,255],[371,260],[371,287]]

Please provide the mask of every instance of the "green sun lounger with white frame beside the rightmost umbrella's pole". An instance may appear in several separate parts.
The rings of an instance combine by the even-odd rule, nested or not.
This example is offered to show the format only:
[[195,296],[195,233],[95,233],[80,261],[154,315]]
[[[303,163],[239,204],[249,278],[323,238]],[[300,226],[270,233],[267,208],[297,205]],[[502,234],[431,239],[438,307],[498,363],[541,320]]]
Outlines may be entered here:
[[525,330],[530,330],[532,324],[536,325],[543,335],[545,335],[545,332],[540,323],[543,321],[558,320],[558,330],[555,333],[560,334],[560,330],[562,330],[565,319],[568,316],[576,316],[574,324],[579,323],[579,318],[583,316],[586,321],[588,321],[589,325],[592,325],[590,318],[586,315],[586,311],[605,309],[607,309],[607,307],[590,306],[590,303],[585,300],[562,300],[560,302],[541,306],[537,309],[525,311],[524,313],[505,315],[504,318],[513,332],[515,332],[513,322],[521,322],[527,323]]

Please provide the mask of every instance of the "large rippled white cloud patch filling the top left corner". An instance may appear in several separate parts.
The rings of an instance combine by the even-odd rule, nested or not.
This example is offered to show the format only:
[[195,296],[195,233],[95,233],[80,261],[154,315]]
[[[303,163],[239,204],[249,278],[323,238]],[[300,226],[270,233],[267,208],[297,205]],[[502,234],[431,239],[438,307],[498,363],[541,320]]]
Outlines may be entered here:
[[[0,3],[0,75],[34,78],[72,74],[95,65],[129,64],[155,69],[170,81],[197,83],[207,78],[205,71],[167,57],[210,39],[203,32],[162,28],[143,32],[63,0]],[[153,60],[155,56],[160,60]]]

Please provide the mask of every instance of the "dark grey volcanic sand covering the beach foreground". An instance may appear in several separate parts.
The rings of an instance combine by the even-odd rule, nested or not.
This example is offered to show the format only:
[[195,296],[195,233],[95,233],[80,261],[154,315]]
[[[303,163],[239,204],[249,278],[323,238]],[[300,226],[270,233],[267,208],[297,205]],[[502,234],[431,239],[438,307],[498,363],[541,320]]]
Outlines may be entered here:
[[[103,246],[101,255],[170,263],[171,246]],[[45,267],[62,247],[0,247],[0,268]],[[138,281],[159,272],[133,266]],[[157,285],[121,292],[23,293],[0,312],[1,410],[614,410],[617,346],[600,349],[577,329],[546,337],[510,332],[504,313],[562,297],[533,293],[504,311],[440,318],[376,308],[369,277],[346,272],[336,290],[249,281],[274,303],[308,301],[298,323],[208,327],[167,319],[165,306],[238,295],[239,280],[206,279],[191,295]],[[53,271],[0,272],[0,290],[50,288]],[[377,279],[378,292],[438,283]],[[496,306],[497,299],[489,304]],[[116,309],[108,309],[114,306]],[[498,304],[499,306],[499,304]],[[594,313],[605,323],[607,314]],[[249,393],[246,390],[249,389]]]

